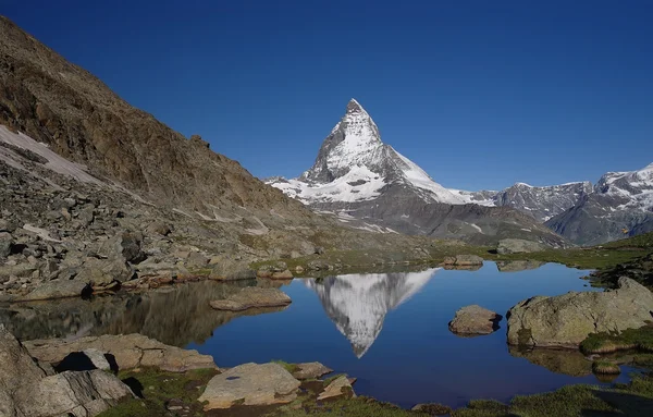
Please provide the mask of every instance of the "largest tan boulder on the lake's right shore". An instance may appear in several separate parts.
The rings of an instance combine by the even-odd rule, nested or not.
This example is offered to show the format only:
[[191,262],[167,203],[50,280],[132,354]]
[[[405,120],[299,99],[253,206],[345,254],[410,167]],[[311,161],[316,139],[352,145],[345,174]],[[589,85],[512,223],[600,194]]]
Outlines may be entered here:
[[651,321],[653,294],[621,277],[618,290],[525,299],[508,311],[508,343],[578,348],[590,334],[638,329]]

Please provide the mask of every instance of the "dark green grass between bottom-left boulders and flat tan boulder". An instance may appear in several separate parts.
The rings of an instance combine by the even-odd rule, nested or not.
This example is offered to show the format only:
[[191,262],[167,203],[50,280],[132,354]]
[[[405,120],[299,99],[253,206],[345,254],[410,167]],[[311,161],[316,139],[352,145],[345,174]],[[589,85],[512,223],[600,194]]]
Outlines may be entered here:
[[118,377],[132,388],[139,398],[131,398],[100,414],[100,417],[160,417],[169,414],[165,405],[171,398],[181,401],[190,416],[204,416],[197,401],[215,369],[196,369],[184,373],[167,372],[153,368],[132,369]]

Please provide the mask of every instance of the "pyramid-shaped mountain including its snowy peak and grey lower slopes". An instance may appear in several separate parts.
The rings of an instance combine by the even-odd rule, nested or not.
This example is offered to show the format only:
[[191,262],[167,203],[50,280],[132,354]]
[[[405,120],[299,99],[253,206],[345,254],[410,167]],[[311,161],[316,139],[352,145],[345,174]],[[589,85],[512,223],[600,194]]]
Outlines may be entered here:
[[[377,124],[354,99],[324,139],[315,164],[298,179],[267,181],[343,223],[364,219],[386,232],[494,243],[522,237],[563,241],[530,216],[509,207],[484,207],[482,193],[448,189],[381,140]],[[475,203],[475,204],[469,204]]]

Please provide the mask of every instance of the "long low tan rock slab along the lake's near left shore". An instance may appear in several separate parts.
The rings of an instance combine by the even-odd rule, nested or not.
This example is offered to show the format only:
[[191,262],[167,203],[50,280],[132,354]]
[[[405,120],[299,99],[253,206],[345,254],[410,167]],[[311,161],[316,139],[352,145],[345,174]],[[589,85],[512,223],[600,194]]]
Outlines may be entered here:
[[144,366],[156,367],[170,372],[185,372],[189,369],[217,368],[210,355],[197,351],[169,346],[143,334],[87,336],[74,341],[47,339],[25,342],[29,354],[40,361],[60,364],[74,352],[97,349],[115,359],[119,369],[133,369]]

